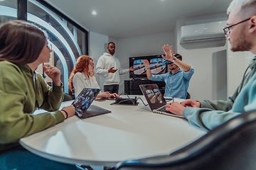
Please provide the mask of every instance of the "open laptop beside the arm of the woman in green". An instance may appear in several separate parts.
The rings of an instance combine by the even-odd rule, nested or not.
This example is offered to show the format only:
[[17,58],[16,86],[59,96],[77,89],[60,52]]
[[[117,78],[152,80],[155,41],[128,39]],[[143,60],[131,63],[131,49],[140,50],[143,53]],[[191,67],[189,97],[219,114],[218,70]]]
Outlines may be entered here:
[[95,105],[91,105],[92,101],[95,100],[97,94],[100,93],[100,89],[90,89],[84,88],[80,92],[75,101],[73,101],[73,106],[75,107],[75,115],[80,119],[90,118],[95,115],[102,115],[105,113],[111,113],[105,108],[100,108]]

